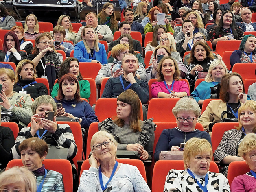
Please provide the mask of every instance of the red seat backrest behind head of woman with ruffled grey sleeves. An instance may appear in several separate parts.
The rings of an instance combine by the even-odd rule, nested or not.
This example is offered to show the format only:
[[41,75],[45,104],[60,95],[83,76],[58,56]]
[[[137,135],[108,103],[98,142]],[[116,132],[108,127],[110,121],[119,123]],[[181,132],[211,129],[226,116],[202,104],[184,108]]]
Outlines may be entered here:
[[[95,105],[95,115],[98,117],[99,122],[116,117],[116,98],[99,98]],[[142,104],[140,102],[140,120],[143,121]]]

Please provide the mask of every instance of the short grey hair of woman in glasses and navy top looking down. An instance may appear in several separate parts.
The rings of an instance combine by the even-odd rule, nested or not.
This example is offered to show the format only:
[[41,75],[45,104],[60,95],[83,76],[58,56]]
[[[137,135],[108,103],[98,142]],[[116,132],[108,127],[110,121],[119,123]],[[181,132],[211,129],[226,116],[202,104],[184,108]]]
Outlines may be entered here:
[[193,111],[197,117],[201,115],[201,109],[196,100],[188,97],[178,100],[172,110],[174,116],[177,116],[181,111]]

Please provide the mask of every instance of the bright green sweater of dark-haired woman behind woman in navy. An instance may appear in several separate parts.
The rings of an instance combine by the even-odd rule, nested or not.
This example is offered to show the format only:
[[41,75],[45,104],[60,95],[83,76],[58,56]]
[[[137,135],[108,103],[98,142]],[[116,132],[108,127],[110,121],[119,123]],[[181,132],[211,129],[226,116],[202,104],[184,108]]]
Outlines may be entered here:
[[[80,85],[80,97],[88,99],[91,94],[91,88],[90,88],[90,83],[87,80],[79,80],[78,81]],[[53,86],[53,91],[52,91],[52,97],[55,98],[58,95],[59,91],[59,83],[55,83]]]

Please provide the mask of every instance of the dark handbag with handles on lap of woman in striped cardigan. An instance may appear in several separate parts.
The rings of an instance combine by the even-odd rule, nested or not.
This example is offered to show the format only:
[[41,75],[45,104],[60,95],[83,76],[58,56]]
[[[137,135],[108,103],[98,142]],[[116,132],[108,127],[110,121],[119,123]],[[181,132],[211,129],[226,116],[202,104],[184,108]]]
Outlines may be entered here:
[[47,144],[49,149],[46,159],[68,159],[68,148],[59,146],[58,142],[52,135],[45,135],[42,137],[42,140],[45,142],[49,139],[55,141],[56,145]]

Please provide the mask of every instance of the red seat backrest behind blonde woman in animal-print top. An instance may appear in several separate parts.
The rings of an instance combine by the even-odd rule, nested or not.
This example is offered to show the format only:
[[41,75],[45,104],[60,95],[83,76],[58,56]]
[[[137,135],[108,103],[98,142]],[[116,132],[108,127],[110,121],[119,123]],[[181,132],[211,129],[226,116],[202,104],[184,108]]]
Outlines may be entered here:
[[[155,163],[152,178],[152,192],[163,192],[166,176],[171,169],[183,170],[183,160],[162,160]],[[210,162],[209,171],[219,172],[218,166],[214,161]]]

